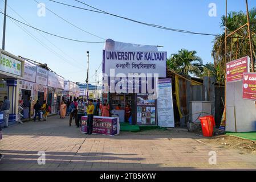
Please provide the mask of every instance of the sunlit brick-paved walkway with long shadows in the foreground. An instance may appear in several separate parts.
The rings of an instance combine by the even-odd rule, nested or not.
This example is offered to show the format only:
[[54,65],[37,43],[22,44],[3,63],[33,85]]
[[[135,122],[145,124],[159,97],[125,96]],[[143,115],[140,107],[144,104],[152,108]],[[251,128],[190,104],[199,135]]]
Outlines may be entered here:
[[[45,165],[38,164],[38,151],[45,151]],[[216,151],[216,165],[209,164],[210,151]],[[0,170],[256,169],[255,155],[203,143],[186,131],[87,136],[57,116],[4,129],[0,152]]]

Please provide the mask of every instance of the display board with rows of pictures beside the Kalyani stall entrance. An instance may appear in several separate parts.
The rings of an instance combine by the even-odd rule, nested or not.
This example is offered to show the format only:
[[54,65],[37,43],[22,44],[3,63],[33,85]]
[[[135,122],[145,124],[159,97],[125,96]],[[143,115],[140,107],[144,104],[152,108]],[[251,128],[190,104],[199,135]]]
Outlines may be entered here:
[[156,100],[150,94],[137,94],[137,125],[156,125]]

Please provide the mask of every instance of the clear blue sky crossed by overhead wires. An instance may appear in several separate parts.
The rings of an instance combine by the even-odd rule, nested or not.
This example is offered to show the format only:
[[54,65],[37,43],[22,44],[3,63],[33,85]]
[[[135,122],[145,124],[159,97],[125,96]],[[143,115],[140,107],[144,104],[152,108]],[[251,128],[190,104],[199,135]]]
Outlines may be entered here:
[[[80,28],[99,35],[103,38],[110,38],[119,42],[159,45],[160,51],[167,51],[168,57],[171,53],[175,53],[181,48],[196,50],[197,55],[202,57],[204,63],[212,62],[211,50],[213,46],[213,36],[190,35],[178,32],[160,30],[158,28],[148,27],[141,24],[129,22],[124,19],[115,18],[104,14],[92,13],[58,5],[47,0],[37,0],[45,3],[48,9],[59,14],[63,18],[76,24]],[[75,6],[88,8],[73,0],[56,0]],[[225,0],[80,0],[95,6],[109,13],[126,16],[131,19],[140,20],[152,24],[160,24],[165,27],[184,29],[195,32],[204,32],[209,34],[220,34],[221,16],[225,14]],[[208,15],[209,3],[216,3],[217,16],[210,17]],[[1,11],[3,10],[3,0],[0,0]],[[42,30],[66,36],[68,38],[87,40],[93,42],[102,41],[99,38],[86,34],[83,31],[70,26],[57,16],[46,10],[45,17],[37,15],[38,7],[33,0],[8,0],[8,5],[13,8],[19,15],[27,20],[32,26]],[[249,0],[249,9],[255,7],[256,2]],[[229,1],[229,11],[246,10],[244,0]],[[7,14],[22,20],[9,7]],[[22,20],[24,22],[24,20]],[[3,15],[0,15],[0,41],[2,43],[2,24]],[[25,27],[25,26],[23,26]],[[47,42],[38,32],[29,27],[25,27],[32,35],[46,44],[48,47],[58,52],[64,57],[56,56],[48,51],[41,44],[32,39],[29,35],[21,30],[16,24],[7,19],[6,27],[6,51],[14,55],[21,55],[41,63],[47,63],[48,66],[59,75],[64,76],[65,80],[84,82],[86,80],[87,57],[86,51],[90,51],[90,76],[94,75],[95,70],[102,61],[103,43],[86,44],[70,42],[54,38],[50,35],[44,35],[48,40],[55,44]],[[2,44],[1,44],[2,45]],[[62,51],[60,51],[61,49]],[[101,69],[99,69],[101,72]],[[92,77],[90,82],[95,81]]]

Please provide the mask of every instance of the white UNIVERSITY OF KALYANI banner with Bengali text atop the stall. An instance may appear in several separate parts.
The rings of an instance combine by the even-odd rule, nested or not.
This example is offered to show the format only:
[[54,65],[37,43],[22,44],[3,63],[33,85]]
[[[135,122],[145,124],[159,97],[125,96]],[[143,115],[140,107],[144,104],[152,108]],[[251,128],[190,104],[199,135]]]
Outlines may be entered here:
[[[113,73],[114,71],[115,73]],[[157,51],[105,51],[103,50],[103,72],[108,77],[119,73],[158,73],[166,77],[166,52]]]

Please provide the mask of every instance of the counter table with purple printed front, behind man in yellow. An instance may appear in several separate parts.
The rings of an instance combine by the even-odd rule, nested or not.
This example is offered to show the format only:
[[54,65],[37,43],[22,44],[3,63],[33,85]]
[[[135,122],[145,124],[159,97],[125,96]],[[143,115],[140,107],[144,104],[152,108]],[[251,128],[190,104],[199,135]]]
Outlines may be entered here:
[[[81,132],[87,133],[87,116],[82,117]],[[94,116],[93,134],[118,135],[120,132],[119,118]]]

